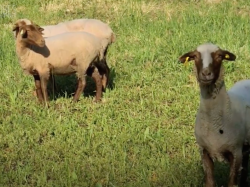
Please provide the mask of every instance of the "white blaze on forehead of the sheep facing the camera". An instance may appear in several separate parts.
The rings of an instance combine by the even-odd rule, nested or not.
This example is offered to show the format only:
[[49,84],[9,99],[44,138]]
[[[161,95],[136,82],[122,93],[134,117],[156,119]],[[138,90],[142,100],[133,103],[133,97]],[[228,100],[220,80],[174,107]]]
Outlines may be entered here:
[[203,68],[207,68],[209,64],[212,64],[213,59],[211,53],[216,52],[218,49],[219,47],[212,43],[202,44],[197,47],[197,51],[201,54]]

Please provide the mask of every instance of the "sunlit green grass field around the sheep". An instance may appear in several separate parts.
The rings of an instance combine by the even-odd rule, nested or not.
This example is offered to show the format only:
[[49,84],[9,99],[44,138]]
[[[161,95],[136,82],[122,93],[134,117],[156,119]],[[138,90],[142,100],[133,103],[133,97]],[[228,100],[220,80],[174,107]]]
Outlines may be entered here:
[[[227,88],[250,75],[250,1],[1,0],[0,186],[199,187],[194,137],[199,88],[178,57],[213,42],[237,56],[225,62]],[[38,104],[11,32],[17,19],[39,25],[75,18],[110,24],[111,82],[72,103],[74,76],[57,77],[50,108]],[[54,99],[53,99],[54,98]],[[55,99],[56,98],[56,99]],[[217,165],[217,185],[228,166]]]

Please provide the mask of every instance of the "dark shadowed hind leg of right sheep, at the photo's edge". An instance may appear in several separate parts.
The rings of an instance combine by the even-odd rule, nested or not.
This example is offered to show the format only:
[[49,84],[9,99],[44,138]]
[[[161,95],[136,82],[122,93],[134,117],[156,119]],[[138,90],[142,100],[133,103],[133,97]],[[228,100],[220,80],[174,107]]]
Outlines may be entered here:
[[241,170],[241,179],[240,186],[247,187],[247,174],[248,174],[248,159],[249,159],[249,145],[244,145],[243,149],[243,159],[242,159],[242,170]]

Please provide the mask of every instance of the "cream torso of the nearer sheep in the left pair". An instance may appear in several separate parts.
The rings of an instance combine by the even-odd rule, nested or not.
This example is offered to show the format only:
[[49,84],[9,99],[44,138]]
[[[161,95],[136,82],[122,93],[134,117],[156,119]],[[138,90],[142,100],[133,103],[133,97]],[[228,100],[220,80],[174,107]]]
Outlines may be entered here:
[[33,70],[36,70],[49,73],[49,65],[52,65],[53,74],[78,72],[82,76],[95,58],[102,58],[100,42],[88,33],[63,33],[45,38],[45,43],[46,47],[43,48],[33,46],[28,57],[20,59],[26,72],[33,74]]

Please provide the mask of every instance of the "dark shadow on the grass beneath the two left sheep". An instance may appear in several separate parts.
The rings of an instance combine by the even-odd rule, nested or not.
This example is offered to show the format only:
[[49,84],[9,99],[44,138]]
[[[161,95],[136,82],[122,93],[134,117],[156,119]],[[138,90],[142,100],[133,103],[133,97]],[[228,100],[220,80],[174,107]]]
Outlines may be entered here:
[[[116,72],[114,68],[110,69],[109,82],[106,89],[113,90],[115,87],[114,79],[116,77]],[[48,84],[48,94],[51,100],[57,100],[58,98],[65,97],[71,98],[77,88],[77,78],[75,75],[55,75],[55,89],[52,82]],[[84,97],[94,97],[96,94],[96,85],[94,80],[87,76],[86,87],[83,91]]]

